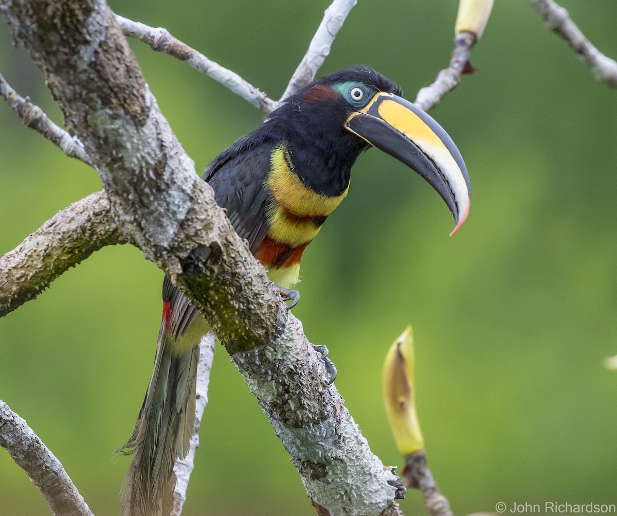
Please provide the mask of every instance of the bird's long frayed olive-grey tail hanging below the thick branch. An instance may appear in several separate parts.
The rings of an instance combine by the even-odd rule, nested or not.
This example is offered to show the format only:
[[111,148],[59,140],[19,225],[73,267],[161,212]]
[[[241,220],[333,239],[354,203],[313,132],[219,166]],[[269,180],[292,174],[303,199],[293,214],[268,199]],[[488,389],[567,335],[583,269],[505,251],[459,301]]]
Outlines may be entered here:
[[173,465],[176,458],[186,457],[193,435],[199,346],[178,346],[165,323],[135,431],[119,450],[135,454],[122,487],[122,516],[170,514]]

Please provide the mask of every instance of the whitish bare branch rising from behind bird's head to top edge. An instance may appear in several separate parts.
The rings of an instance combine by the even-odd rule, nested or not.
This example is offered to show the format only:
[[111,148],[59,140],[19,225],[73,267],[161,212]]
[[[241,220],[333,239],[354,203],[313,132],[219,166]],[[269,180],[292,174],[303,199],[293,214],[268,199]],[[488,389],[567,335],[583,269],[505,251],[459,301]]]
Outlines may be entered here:
[[334,38],[341,30],[347,15],[355,4],[357,4],[357,0],[334,0],[325,10],[323,20],[321,20],[317,32],[310,42],[309,49],[300,61],[279,102],[295,93],[302,86],[306,86],[315,78],[317,70],[321,68],[330,53]]

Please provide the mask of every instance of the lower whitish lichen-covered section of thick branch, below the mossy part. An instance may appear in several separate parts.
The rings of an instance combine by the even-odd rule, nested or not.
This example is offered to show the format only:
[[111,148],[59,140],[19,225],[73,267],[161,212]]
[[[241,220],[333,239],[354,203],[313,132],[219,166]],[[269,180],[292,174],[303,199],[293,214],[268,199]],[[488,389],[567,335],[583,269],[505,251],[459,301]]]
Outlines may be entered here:
[[400,478],[370,452],[336,387],[326,383],[323,360],[299,320],[289,314],[276,341],[232,358],[326,514],[378,515],[396,507],[405,492]]

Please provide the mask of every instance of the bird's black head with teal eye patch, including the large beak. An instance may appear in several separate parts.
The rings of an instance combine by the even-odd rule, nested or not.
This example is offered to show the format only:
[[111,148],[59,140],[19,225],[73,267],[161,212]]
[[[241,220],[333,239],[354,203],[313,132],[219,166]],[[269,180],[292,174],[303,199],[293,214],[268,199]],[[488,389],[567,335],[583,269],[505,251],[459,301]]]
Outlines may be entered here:
[[444,199],[456,222],[451,235],[465,222],[471,188],[457,146],[381,73],[368,67],[341,70],[300,89],[280,110],[296,130],[325,151],[349,154],[351,163],[370,146],[394,156]]

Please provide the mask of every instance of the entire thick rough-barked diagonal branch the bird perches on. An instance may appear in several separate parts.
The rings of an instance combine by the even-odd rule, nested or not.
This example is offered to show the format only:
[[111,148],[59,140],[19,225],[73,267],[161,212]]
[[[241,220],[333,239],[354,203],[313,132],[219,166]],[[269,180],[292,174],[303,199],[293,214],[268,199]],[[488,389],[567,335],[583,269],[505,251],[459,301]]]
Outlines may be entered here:
[[[370,452],[299,323],[196,174],[106,3],[0,0],[0,12],[101,176],[115,238],[141,249],[201,309],[316,506],[331,515],[392,514],[399,478]],[[110,243],[92,235],[91,251]]]

